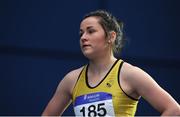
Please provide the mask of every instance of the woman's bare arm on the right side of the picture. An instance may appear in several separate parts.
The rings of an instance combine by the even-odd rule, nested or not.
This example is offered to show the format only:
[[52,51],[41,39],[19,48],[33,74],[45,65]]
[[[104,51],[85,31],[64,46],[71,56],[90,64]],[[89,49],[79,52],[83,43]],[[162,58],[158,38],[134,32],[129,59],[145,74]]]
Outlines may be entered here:
[[163,116],[180,115],[180,106],[152,77],[138,67],[125,63],[126,79],[137,95],[142,96]]

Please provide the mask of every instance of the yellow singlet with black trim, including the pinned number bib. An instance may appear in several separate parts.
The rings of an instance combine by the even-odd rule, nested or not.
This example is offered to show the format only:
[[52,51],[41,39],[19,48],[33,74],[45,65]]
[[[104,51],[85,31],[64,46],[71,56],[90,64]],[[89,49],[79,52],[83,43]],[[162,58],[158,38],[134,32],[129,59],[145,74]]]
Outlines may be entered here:
[[95,87],[88,84],[88,65],[84,66],[73,89],[76,116],[135,115],[138,100],[128,96],[119,82],[122,64],[122,60],[116,60],[104,79]]

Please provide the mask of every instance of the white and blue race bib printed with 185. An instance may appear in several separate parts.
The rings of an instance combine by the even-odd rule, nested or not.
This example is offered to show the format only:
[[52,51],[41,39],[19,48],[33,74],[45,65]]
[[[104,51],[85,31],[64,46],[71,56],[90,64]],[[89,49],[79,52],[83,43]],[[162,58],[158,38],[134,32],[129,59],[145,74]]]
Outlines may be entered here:
[[115,116],[112,95],[105,92],[81,95],[74,102],[76,116]]

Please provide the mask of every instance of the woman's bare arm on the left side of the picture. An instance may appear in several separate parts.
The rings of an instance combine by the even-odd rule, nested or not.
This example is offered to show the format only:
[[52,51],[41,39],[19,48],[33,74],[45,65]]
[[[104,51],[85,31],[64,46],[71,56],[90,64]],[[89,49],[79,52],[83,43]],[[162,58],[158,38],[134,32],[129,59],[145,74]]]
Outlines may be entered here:
[[81,69],[68,73],[59,83],[55,94],[46,106],[42,116],[59,116],[71,103],[72,90]]

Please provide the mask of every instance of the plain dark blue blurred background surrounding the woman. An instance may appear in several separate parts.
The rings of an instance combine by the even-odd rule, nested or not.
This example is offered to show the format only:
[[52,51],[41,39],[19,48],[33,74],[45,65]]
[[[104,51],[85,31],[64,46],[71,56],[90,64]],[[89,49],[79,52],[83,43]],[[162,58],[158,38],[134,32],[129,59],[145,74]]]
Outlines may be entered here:
[[[123,60],[149,73],[180,103],[179,0],[1,0],[0,115],[41,115],[65,74],[87,63],[84,14],[106,9],[124,21]],[[72,105],[63,115],[74,115]],[[159,115],[143,98],[136,115]]]

